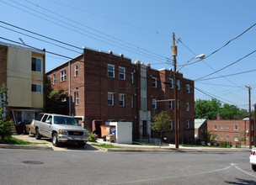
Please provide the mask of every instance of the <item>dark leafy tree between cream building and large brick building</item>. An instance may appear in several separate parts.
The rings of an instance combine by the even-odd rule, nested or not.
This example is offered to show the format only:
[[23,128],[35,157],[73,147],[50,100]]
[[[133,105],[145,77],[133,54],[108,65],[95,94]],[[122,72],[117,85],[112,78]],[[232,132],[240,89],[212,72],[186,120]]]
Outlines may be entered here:
[[53,114],[67,114],[67,92],[65,89],[53,91],[51,87],[51,80],[45,78],[45,108],[44,112]]

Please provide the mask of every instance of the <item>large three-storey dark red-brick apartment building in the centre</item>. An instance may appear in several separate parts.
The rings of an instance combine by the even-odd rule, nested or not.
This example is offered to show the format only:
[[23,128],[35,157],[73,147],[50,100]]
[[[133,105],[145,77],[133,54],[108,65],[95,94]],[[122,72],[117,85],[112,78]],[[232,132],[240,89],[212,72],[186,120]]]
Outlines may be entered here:
[[[69,114],[84,118],[84,127],[110,121],[132,122],[133,140],[157,137],[153,117],[165,110],[173,119],[173,72],[154,70],[150,64],[131,63],[123,55],[84,49],[46,75],[53,89],[67,89]],[[177,75],[179,142],[194,140],[194,82]],[[169,84],[163,82],[170,82]],[[99,125],[98,125],[99,126]],[[98,127],[99,130],[99,127]],[[174,142],[173,121],[163,138]]]

